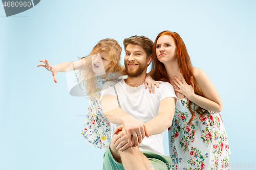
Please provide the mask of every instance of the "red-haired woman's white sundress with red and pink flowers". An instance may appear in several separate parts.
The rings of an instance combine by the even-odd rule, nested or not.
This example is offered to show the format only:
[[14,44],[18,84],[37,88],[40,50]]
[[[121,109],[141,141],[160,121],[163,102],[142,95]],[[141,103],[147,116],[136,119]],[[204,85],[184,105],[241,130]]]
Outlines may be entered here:
[[173,169],[230,169],[231,152],[221,115],[208,111],[200,117],[196,113],[188,125],[190,117],[188,100],[183,98],[168,129]]

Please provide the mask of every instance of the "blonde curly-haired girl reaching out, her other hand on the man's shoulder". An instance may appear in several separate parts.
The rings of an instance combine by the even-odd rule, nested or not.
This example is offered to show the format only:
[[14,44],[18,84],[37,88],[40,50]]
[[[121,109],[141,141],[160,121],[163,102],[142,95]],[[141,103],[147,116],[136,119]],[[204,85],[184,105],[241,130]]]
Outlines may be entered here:
[[[47,60],[40,60],[45,64],[37,65],[37,67],[43,66],[51,71],[55,83],[57,83],[57,72],[78,70],[79,85],[85,87],[89,100],[88,114],[82,130],[82,136],[90,144],[104,151],[111,141],[111,128],[109,120],[103,115],[99,99],[101,89],[106,81],[126,75],[125,68],[119,65],[121,51],[122,48],[116,40],[103,39],[95,45],[88,57],[80,58],[75,62],[63,62],[57,65],[50,65]],[[148,87],[154,87],[154,84],[157,85],[151,77],[147,77],[145,84],[146,82],[150,82]]]

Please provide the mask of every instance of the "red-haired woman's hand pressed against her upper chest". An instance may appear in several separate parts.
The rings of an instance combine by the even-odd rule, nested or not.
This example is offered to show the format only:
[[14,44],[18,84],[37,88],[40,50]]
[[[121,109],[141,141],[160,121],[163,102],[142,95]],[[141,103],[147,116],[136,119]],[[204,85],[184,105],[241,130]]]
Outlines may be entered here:
[[177,78],[177,77],[174,77],[174,84],[178,87],[178,88],[174,88],[174,90],[176,92],[179,92],[183,95],[186,96],[187,99],[189,99],[189,96],[195,94],[194,92],[194,78],[191,77],[191,82],[192,82],[192,85],[188,85],[185,81],[185,79],[183,78],[182,74],[180,74],[181,76],[181,81]]

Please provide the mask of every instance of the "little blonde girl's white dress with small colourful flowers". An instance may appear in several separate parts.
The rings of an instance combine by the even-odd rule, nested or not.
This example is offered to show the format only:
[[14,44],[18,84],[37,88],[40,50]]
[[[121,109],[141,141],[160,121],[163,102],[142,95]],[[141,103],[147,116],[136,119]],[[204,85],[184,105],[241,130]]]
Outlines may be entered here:
[[114,79],[115,73],[109,74],[105,79],[96,77],[95,84],[98,92],[95,98],[89,99],[86,123],[84,123],[82,130],[82,136],[90,144],[104,151],[111,141],[111,127],[109,120],[103,115],[99,99],[104,83]]

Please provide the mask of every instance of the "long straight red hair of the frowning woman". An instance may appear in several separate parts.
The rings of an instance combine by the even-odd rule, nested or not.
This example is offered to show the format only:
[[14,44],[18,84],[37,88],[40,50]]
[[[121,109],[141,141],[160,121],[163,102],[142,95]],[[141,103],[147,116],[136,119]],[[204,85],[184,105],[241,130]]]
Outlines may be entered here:
[[[188,56],[185,43],[183,42],[180,35],[176,32],[163,31],[158,34],[158,36],[154,42],[154,45],[153,45],[153,52],[152,52],[153,60],[152,60],[152,69],[151,69],[150,75],[156,81],[165,81],[165,82],[170,83],[169,76],[167,74],[165,66],[163,63],[161,63],[157,59],[157,55],[156,55],[157,40],[159,37],[161,37],[163,35],[169,35],[174,38],[174,41],[175,41],[176,47],[177,47],[178,64],[179,64],[180,72],[181,72],[182,76],[184,77],[187,84],[192,85],[194,83],[195,94],[203,96],[203,93],[202,93],[201,89],[199,88],[199,86],[197,85],[197,82],[195,80],[193,81],[191,79],[191,77],[194,77],[194,72],[193,72],[193,67],[192,67],[191,61],[190,61],[190,57]],[[194,104],[194,107],[192,110],[191,109],[192,106],[193,106],[193,102],[189,101],[188,109],[191,112],[192,116],[188,122],[188,125],[191,124],[192,120],[194,119],[195,112],[197,112],[201,115],[203,115],[206,112],[203,108],[201,108],[195,104]]]

